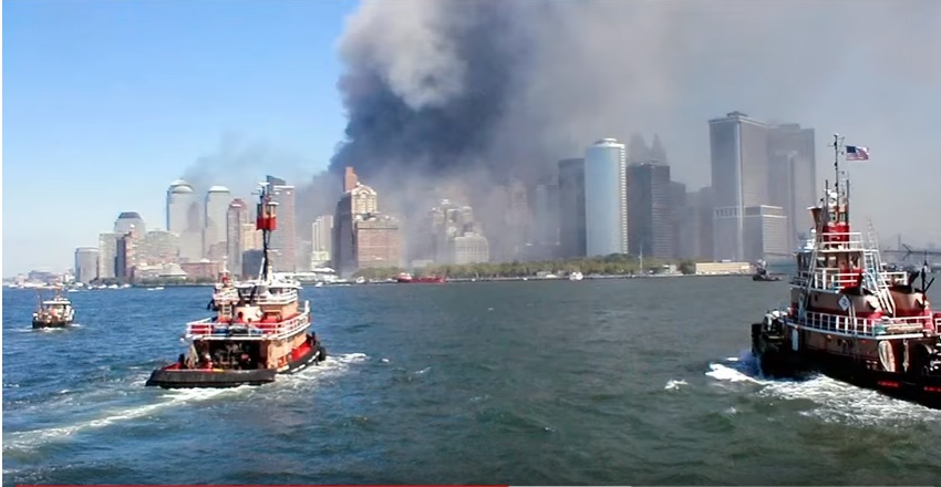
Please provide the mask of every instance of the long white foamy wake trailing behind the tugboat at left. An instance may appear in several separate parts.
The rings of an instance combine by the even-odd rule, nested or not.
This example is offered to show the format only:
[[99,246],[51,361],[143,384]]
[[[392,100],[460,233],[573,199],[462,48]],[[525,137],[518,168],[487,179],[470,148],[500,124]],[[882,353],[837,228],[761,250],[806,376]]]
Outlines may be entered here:
[[[77,422],[65,426],[53,426],[41,429],[15,432],[4,434],[3,453],[30,452],[51,443],[65,442],[73,435],[89,429],[99,429],[117,423],[153,416],[165,410],[172,410],[184,404],[201,403],[210,400],[231,398],[246,394],[257,394],[260,388],[301,388],[309,387],[311,381],[322,381],[335,377],[348,371],[351,364],[363,362],[368,359],[364,353],[349,353],[330,355],[327,361],[317,366],[308,367],[293,375],[278,377],[278,382],[259,387],[242,385],[232,388],[173,388],[159,390],[159,400],[151,404],[141,404],[130,407],[115,407],[105,412],[100,417]],[[134,376],[124,382],[126,387],[141,387],[146,377]],[[141,392],[144,392],[143,390]],[[87,391],[91,395],[99,395],[101,391]]]

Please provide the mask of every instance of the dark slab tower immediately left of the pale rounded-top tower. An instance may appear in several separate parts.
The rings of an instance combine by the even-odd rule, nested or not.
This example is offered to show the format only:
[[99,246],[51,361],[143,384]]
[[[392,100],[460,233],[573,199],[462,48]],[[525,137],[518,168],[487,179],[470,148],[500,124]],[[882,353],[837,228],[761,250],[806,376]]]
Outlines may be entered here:
[[585,257],[585,159],[559,160],[559,246],[565,258]]

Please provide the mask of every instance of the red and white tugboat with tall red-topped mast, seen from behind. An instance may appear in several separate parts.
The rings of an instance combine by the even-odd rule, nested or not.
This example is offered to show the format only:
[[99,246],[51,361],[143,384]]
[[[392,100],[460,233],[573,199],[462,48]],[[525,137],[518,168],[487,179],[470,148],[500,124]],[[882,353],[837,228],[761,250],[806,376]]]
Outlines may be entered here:
[[310,302],[299,305],[300,284],[280,279],[268,257],[277,227],[277,203],[261,186],[256,227],[262,232],[261,272],[257,280],[231,282],[224,274],[208,308],[215,317],[186,325],[189,354],[154,371],[148,386],[235,387],[275,382],[327,359],[311,327]]

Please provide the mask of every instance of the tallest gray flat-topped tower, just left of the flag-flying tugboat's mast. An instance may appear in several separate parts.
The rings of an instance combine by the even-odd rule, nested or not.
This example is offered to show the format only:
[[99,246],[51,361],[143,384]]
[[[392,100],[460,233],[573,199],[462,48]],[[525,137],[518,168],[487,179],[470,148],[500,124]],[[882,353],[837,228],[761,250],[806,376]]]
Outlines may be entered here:
[[711,120],[709,125],[715,195],[715,259],[761,259],[764,256],[746,250],[755,246],[746,241],[745,213],[746,208],[768,204],[767,126],[740,112]]

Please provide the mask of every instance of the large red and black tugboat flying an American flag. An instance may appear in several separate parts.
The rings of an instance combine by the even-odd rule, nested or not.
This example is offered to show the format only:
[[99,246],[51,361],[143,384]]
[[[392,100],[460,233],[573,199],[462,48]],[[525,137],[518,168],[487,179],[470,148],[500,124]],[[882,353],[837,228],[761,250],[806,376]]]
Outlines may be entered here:
[[[868,159],[861,147],[845,149]],[[926,297],[934,280],[926,282],[927,262],[911,274],[887,271],[872,231],[864,240],[850,229],[839,135],[834,152],[836,184],[810,208],[816,228],[796,256],[790,307],[752,324],[752,352],[768,376],[820,372],[941,408],[941,313]]]

